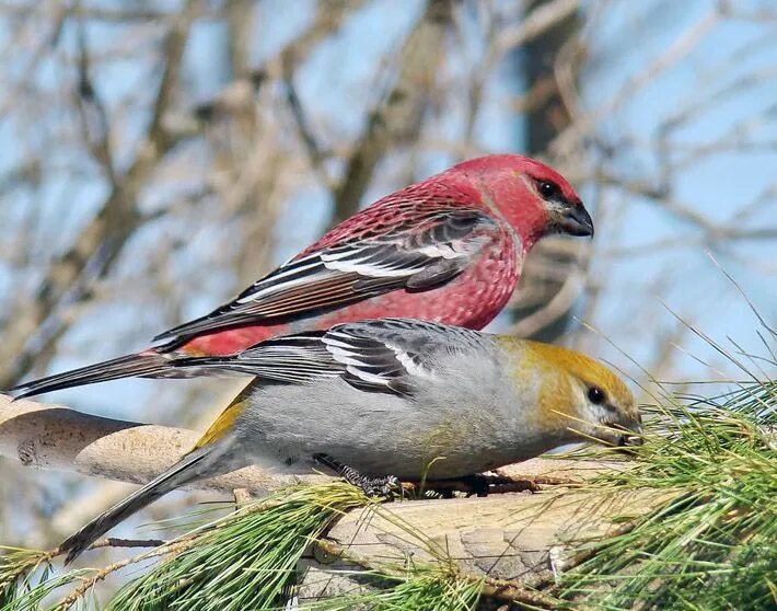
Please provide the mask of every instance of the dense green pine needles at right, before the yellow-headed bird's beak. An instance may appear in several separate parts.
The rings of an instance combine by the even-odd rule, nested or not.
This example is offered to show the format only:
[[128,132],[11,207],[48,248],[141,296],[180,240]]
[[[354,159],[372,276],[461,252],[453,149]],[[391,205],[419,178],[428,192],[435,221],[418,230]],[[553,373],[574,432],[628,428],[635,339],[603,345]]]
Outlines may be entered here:
[[592,544],[558,593],[588,609],[775,608],[777,383],[652,412],[657,433],[635,468],[593,486],[676,495],[628,532]]

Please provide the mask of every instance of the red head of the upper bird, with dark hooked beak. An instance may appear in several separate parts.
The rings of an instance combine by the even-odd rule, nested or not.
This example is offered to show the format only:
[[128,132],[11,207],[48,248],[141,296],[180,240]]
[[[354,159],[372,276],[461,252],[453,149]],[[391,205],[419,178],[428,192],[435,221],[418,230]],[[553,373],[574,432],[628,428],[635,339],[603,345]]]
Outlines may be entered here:
[[527,251],[543,235],[593,235],[593,221],[571,185],[544,163],[520,154],[491,154],[447,170],[476,188],[483,204],[500,214]]

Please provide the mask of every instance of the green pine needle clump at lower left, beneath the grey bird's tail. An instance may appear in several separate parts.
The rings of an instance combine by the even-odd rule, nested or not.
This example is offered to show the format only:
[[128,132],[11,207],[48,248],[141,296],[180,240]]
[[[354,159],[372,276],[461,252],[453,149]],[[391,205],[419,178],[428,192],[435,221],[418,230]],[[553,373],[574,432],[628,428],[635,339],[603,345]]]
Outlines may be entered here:
[[345,483],[283,493],[206,527],[183,551],[124,587],[116,611],[282,609],[297,563],[332,520],[370,500]]

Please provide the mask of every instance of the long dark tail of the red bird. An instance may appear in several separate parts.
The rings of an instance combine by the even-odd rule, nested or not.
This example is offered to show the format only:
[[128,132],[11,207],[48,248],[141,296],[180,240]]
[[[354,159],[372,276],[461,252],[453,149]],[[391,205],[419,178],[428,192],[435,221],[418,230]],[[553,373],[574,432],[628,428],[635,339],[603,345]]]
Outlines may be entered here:
[[63,373],[56,373],[38,380],[24,382],[12,388],[12,391],[22,391],[16,399],[33,396],[44,392],[69,389],[83,384],[107,382],[132,376],[164,376],[174,371],[172,359],[153,351],[127,355]]

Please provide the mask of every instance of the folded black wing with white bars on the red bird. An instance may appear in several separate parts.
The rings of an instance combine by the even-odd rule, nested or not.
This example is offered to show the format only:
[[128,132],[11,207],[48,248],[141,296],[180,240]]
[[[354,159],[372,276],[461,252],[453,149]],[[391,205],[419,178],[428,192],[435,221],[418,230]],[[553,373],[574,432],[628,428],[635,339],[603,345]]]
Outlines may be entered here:
[[413,224],[305,253],[233,301],[155,339],[183,341],[252,322],[315,315],[402,288],[427,290],[466,269],[497,228],[475,209],[437,209]]

